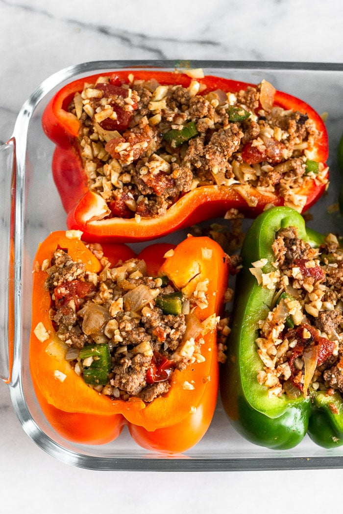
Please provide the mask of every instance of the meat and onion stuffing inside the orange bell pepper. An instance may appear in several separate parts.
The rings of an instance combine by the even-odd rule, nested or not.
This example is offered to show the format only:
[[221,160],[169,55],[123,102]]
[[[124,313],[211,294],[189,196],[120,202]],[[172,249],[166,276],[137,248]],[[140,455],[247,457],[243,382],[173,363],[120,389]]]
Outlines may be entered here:
[[61,248],[45,269],[50,318],[69,347],[66,359],[102,394],[151,402],[169,390],[175,369],[205,360],[203,337],[220,319],[201,323],[192,311],[207,306],[208,282],[198,282],[188,298],[167,277],[149,277],[142,260],[111,267],[99,244],[89,249],[103,266],[98,274]]

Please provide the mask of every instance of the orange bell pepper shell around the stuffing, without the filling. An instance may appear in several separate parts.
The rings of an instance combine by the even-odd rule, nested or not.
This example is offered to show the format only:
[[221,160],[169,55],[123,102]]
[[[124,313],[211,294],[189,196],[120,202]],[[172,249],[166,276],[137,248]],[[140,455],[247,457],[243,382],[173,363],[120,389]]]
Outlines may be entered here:
[[[66,232],[50,234],[38,249],[33,273],[29,356],[32,382],[49,423],[64,438],[86,444],[107,443],[128,424],[133,438],[145,448],[163,452],[187,450],[204,435],[215,409],[219,374],[215,331],[204,335],[202,355],[205,361],[194,362],[183,371],[175,370],[169,392],[151,403],[146,404],[139,398],[112,400],[97,393],[65,360],[66,345],[56,336],[49,319],[51,300],[44,290],[47,274],[42,265],[51,259],[58,245],[66,248],[73,259],[81,259],[88,271],[101,269],[100,262],[84,243],[66,237]],[[207,279],[208,306],[196,307],[194,312],[200,321],[214,313],[218,316],[228,278],[223,250],[207,237],[188,237],[165,259],[166,250],[172,246],[152,245],[138,258],[146,260],[149,273],[155,275],[157,271],[156,274],[167,275],[178,288],[185,288],[185,292],[192,292],[199,281]],[[104,245],[103,250],[106,256],[111,256],[113,264],[133,256],[132,250],[121,244]],[[43,341],[35,334],[40,322],[48,334]],[[65,375],[63,381],[55,378],[56,371]],[[181,428],[184,430],[182,437]]]

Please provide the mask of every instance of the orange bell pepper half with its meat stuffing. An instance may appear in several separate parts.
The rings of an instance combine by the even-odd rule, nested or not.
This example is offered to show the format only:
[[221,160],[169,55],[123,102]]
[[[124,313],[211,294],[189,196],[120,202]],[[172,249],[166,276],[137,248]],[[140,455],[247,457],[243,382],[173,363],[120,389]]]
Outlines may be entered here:
[[128,425],[144,448],[183,452],[216,405],[228,256],[207,237],[137,256],[80,235],[51,233],[35,258],[30,369],[41,408],[78,443],[110,442]]

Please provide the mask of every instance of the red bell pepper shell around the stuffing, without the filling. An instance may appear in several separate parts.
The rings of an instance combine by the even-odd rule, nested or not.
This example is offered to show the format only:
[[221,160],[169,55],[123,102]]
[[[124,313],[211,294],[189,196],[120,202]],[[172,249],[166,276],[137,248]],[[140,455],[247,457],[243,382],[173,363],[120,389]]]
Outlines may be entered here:
[[[108,75],[112,77],[111,81],[114,84],[120,85],[122,82],[129,81],[130,74],[133,74],[136,79],[148,80],[153,76],[160,84],[181,84],[184,87],[187,87],[191,81],[191,78],[185,74],[158,70],[153,72],[121,70]],[[46,107],[42,120],[46,135],[57,144],[52,160],[52,173],[63,207],[67,212],[67,226],[70,229],[82,230],[86,241],[147,241],[209,218],[223,216],[228,209],[238,209],[247,217],[255,217],[264,210],[267,204],[283,205],[283,198],[275,194],[262,195],[251,188],[251,196],[257,199],[257,204],[249,206],[245,199],[231,187],[212,185],[198,187],[184,194],[164,216],[142,218],[139,223],[135,218],[98,219],[99,196],[88,190],[87,179],[76,149],[75,141],[80,122],[74,115],[64,110],[74,93],[83,89],[84,82],[92,83],[98,76],[79,79],[64,86]],[[197,80],[206,85],[206,92],[223,89],[234,93],[252,85],[213,76]],[[328,158],[327,131],[322,119],[314,109],[302,100],[281,91],[276,91],[274,103],[285,109],[294,109],[307,114],[314,120],[321,133],[314,149],[315,159],[326,162]],[[319,199],[325,188],[326,185],[318,184],[311,178],[305,181],[303,190],[300,192],[307,197],[303,212]]]

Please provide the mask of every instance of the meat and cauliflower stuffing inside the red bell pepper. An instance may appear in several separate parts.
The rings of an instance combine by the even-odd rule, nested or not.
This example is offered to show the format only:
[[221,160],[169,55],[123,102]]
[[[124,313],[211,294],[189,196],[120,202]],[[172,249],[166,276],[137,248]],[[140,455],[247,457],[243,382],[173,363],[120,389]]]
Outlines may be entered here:
[[328,182],[327,168],[313,160],[314,123],[273,105],[268,82],[233,94],[207,92],[195,79],[189,87],[129,79],[86,83],[69,105],[81,121],[88,187],[105,203],[101,217],[162,216],[204,185],[233,187],[249,205],[254,187],[301,211],[304,182]]

